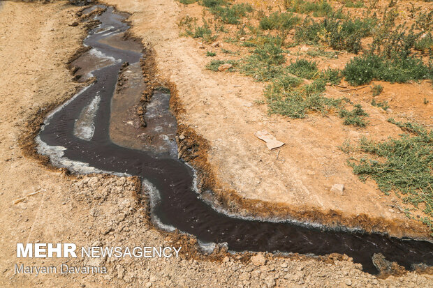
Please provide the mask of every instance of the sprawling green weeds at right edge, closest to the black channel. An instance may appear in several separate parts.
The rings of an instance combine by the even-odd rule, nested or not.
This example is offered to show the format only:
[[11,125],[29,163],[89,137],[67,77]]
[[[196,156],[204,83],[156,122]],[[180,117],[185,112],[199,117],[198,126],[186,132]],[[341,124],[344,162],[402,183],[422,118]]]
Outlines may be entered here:
[[349,165],[362,181],[374,179],[383,192],[394,190],[404,202],[422,207],[430,218],[423,222],[433,231],[433,132],[414,123],[388,121],[407,133],[386,142],[363,138],[358,149],[370,157],[353,159]]

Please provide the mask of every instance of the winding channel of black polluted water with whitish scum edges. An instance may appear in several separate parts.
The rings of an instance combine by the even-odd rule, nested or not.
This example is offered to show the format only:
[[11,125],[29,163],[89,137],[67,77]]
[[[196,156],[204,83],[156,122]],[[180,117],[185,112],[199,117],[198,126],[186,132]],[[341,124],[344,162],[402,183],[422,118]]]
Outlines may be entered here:
[[[50,112],[36,137],[38,152],[49,156],[53,165],[75,173],[140,176],[153,191],[149,193],[152,220],[159,227],[192,234],[200,243],[209,243],[207,247],[226,243],[233,252],[340,253],[352,257],[369,273],[378,273],[372,262],[375,253],[406,269],[413,264],[433,266],[433,243],[429,241],[237,218],[200,199],[193,169],[177,159],[177,123],[168,107],[169,93],[156,91],[152,96],[144,115],[147,126],[140,127],[140,137],[136,137],[138,144],[134,146],[124,136],[138,128],[133,117],[122,119],[133,114],[127,112],[132,100],[125,95],[138,101],[142,93],[142,80],[136,76],[141,73],[142,47],[122,37],[129,29],[124,22],[127,15],[105,6],[92,6],[82,13],[101,8],[106,8],[105,12],[92,16],[100,24],[84,40],[91,49],[73,63],[80,67],[78,73],[82,71],[83,79],[95,77],[96,81]],[[126,68],[125,62],[129,63]],[[132,84],[122,88],[124,94],[118,91],[119,72],[131,78]],[[127,105],[122,107],[122,103]]]

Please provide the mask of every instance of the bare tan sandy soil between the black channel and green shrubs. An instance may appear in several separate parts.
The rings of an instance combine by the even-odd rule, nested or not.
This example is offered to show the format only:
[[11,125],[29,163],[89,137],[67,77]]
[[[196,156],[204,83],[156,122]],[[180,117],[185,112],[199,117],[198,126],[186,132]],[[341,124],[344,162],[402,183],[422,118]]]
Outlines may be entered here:
[[[179,36],[177,22],[185,15],[200,19],[202,6],[185,7],[172,0],[103,2],[133,14],[132,32],[154,47],[160,76],[177,88],[185,112],[177,116],[179,123],[193,128],[210,144],[207,160],[217,179],[215,192],[230,198],[229,202],[238,208],[247,208],[242,213],[279,215],[329,225],[342,223],[396,236],[427,235],[428,229],[420,222],[408,220],[399,209],[392,209],[404,207],[397,197],[384,197],[374,181],[362,183],[346,165],[347,156],[337,148],[345,139],[355,142],[366,136],[385,140],[401,133],[386,122],[390,116],[398,116],[398,104],[393,103],[402,101],[397,93],[389,92],[393,91],[388,89],[391,84],[381,97],[394,99],[390,102],[396,109],[392,115],[369,105],[372,96],[362,91],[346,93],[338,87],[327,90],[330,96],[346,96],[366,107],[372,125],[362,130],[343,126],[335,114],[312,114],[300,120],[269,116],[266,105],[256,104],[256,100],[263,100],[263,84],[235,73],[205,70],[210,61],[205,52],[212,47],[204,44],[203,50],[198,40]],[[345,58],[350,59],[350,55]],[[394,91],[401,89],[399,84],[392,85]],[[413,84],[415,88],[402,97],[411,95],[409,101],[422,106],[419,99],[432,98],[431,89],[425,93],[429,85]],[[413,93],[413,89],[418,93]],[[431,115],[432,107],[422,107],[422,112]],[[431,122],[429,117],[425,119]],[[286,143],[278,157],[277,151],[267,150],[264,142],[254,136],[263,129]],[[334,184],[344,184],[342,195],[330,191]]]

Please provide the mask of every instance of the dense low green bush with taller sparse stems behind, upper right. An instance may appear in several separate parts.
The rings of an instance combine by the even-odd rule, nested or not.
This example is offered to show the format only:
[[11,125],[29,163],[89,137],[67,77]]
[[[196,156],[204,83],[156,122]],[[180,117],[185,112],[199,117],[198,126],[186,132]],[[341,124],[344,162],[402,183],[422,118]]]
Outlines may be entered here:
[[[433,14],[432,14],[433,15]],[[415,31],[414,25],[395,25],[397,10],[384,13],[381,22],[374,29],[373,43],[370,50],[362,56],[352,59],[344,68],[346,80],[353,85],[367,84],[372,79],[386,82],[409,82],[411,80],[433,77],[432,65],[413,55],[416,45],[420,43],[423,31]]]

